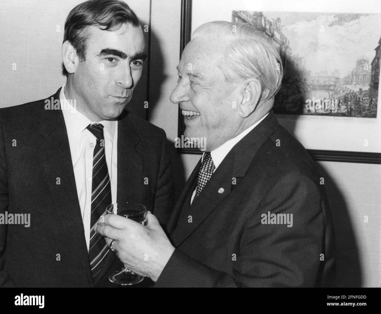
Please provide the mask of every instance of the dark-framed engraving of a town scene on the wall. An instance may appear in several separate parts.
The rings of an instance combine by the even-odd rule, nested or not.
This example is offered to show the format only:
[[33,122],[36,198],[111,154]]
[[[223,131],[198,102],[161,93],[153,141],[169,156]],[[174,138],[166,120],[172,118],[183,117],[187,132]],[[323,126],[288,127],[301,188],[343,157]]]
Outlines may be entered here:
[[[280,124],[314,160],[380,164],[381,6],[338,4],[182,0],[180,54],[206,22],[251,24],[282,60],[282,87],[273,107]],[[184,130],[179,111],[180,138]]]

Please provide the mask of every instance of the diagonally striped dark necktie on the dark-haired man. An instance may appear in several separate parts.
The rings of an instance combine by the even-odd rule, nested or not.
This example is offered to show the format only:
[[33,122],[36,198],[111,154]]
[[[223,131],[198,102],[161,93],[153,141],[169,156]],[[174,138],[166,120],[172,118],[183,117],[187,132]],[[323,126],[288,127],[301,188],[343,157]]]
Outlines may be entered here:
[[102,269],[102,260],[109,253],[104,237],[94,231],[101,215],[106,214],[106,207],[112,203],[111,184],[107,169],[104,149],[103,125],[88,125],[87,129],[96,137],[93,155],[93,182],[91,185],[91,218],[89,259],[94,282],[100,278],[96,275]]

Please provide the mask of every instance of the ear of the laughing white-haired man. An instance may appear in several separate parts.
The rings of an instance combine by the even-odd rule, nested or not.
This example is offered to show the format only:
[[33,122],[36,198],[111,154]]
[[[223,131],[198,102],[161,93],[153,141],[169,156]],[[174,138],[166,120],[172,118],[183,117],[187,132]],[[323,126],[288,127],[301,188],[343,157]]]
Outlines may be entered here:
[[238,114],[242,118],[248,117],[255,111],[261,100],[262,87],[257,79],[247,79],[243,82],[241,91],[242,102],[239,104]]

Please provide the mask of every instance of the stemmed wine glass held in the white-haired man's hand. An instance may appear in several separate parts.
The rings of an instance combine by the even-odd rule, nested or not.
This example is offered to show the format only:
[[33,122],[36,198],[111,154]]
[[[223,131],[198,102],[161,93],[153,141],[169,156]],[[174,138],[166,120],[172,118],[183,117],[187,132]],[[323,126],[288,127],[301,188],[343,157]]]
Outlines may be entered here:
[[[147,224],[147,208],[142,204],[128,202],[115,203],[107,206],[106,213],[132,219],[137,223],[141,223],[143,226]],[[138,284],[143,279],[144,277],[134,274],[128,268],[123,268],[109,276],[111,282],[123,286]]]

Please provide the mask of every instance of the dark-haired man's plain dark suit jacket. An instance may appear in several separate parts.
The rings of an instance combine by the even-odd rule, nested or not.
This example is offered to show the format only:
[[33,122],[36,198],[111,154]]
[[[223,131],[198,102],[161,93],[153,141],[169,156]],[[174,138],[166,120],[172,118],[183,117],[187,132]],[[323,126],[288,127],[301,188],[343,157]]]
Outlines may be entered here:
[[[30,213],[30,227],[0,224],[0,287],[111,286],[108,275],[123,265],[109,252],[93,282],[64,117],[44,101],[0,109],[0,213]],[[117,145],[117,201],[142,203],[165,224],[173,208],[165,132],[123,112]]]

